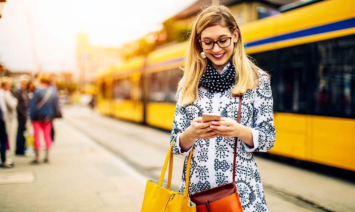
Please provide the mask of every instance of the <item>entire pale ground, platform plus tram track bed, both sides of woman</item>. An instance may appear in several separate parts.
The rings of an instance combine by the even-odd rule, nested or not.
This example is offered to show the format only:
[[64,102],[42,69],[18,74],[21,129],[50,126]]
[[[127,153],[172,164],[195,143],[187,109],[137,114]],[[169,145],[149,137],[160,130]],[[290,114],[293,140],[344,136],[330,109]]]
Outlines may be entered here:
[[[50,164],[17,156],[14,168],[0,169],[0,211],[139,212],[146,180],[160,174],[169,133],[88,108],[66,108],[64,116],[55,122]],[[175,188],[183,160],[174,157]],[[354,183],[256,160],[270,212],[355,211]]]

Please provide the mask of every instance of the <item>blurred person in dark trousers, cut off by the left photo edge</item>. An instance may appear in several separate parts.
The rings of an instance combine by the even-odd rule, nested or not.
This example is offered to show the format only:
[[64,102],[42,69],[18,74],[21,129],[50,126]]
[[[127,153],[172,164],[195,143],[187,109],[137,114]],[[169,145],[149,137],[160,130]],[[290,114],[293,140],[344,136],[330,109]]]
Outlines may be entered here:
[[[3,112],[5,111],[5,113]],[[6,126],[5,126],[5,114],[7,113],[6,103],[4,99],[4,93],[0,92],[0,155],[1,155],[1,167],[11,168],[13,163],[6,160]]]

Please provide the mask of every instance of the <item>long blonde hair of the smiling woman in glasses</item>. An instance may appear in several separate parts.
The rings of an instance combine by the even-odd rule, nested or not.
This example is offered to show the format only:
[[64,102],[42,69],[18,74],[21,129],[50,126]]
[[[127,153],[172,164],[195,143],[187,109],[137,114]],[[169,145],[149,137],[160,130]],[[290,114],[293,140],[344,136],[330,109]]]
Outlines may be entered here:
[[[178,85],[178,95],[176,95],[180,106],[190,104],[198,98],[198,83],[207,65],[207,59],[203,59],[200,55],[203,49],[198,41],[204,29],[217,24],[230,29],[230,32],[237,30],[236,33],[238,33],[238,40],[231,56],[236,72],[232,96],[243,95],[247,90],[254,89],[259,84],[260,73],[258,71],[262,70],[246,55],[238,24],[231,11],[224,5],[213,4],[199,13],[192,25],[191,35],[187,41],[185,67],[180,67],[184,73]],[[268,74],[267,76],[269,77]],[[181,93],[179,93],[180,90]]]

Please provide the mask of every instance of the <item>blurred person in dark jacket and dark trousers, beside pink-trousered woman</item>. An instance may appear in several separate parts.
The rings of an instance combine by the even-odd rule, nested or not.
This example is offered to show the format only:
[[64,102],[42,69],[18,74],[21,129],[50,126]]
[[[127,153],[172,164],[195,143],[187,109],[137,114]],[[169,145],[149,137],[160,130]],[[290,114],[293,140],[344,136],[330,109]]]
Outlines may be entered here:
[[15,90],[13,95],[18,100],[17,104],[17,138],[16,138],[16,155],[24,155],[25,138],[23,131],[26,130],[26,121],[29,109],[29,97],[27,94],[28,76],[21,75],[19,78],[19,88]]

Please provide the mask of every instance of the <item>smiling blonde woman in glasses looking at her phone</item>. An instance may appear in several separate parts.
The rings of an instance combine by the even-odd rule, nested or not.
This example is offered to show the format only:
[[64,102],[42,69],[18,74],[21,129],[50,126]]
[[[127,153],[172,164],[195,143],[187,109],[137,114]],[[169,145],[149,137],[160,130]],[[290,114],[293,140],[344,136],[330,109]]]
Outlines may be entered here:
[[[170,141],[176,136],[174,154],[193,151],[190,195],[231,182],[238,138],[235,183],[242,207],[245,212],[268,211],[252,152],[274,145],[270,79],[245,54],[227,7],[212,5],[196,17],[185,58]],[[203,123],[203,112],[219,113],[221,121]],[[182,180],[180,192],[184,187]]]

